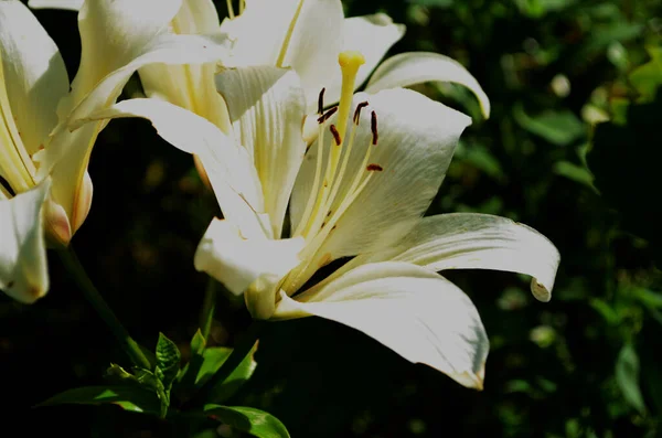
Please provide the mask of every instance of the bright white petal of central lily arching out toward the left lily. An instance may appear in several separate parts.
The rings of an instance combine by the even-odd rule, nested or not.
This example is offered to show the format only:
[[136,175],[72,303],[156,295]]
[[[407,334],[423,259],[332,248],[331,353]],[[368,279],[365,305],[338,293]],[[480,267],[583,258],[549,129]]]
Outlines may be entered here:
[[174,147],[200,157],[225,217],[246,237],[264,235],[268,220],[259,179],[245,149],[209,120],[157,99],[122,100],[93,115],[94,119],[141,117],[149,119],[159,136]]

